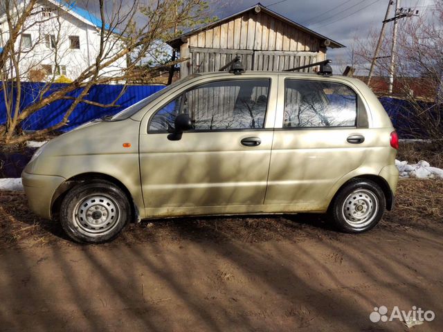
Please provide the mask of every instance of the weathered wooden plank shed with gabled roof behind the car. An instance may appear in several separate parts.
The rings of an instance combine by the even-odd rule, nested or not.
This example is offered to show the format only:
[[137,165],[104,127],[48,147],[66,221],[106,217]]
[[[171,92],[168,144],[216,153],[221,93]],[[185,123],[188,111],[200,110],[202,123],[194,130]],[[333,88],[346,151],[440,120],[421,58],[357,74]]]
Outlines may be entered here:
[[[218,71],[235,55],[246,71],[282,71],[323,61],[327,47],[345,47],[260,3],[168,42],[181,57],[181,77]],[[304,71],[312,70],[312,68]]]

